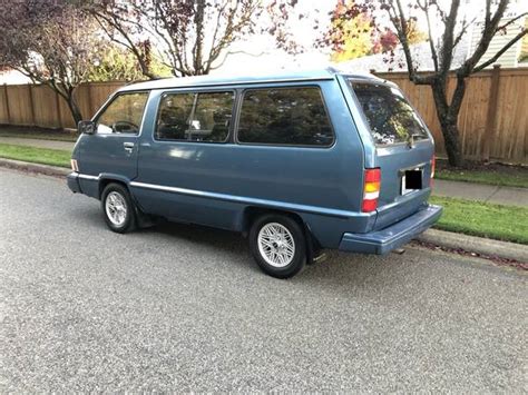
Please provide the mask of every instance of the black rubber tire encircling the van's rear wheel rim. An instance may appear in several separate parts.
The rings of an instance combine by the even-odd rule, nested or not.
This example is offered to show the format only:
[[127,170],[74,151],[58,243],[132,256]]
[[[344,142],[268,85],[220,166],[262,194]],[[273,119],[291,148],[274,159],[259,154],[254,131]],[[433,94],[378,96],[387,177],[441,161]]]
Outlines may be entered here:
[[[270,264],[261,253],[258,235],[268,224],[280,224],[287,229],[294,241],[293,258],[283,267],[276,267]],[[287,236],[289,238],[289,236]],[[302,226],[294,219],[280,215],[267,214],[263,215],[253,223],[250,230],[250,249],[253,258],[258,264],[261,269],[267,275],[276,278],[290,278],[300,273],[306,264],[306,238]]]

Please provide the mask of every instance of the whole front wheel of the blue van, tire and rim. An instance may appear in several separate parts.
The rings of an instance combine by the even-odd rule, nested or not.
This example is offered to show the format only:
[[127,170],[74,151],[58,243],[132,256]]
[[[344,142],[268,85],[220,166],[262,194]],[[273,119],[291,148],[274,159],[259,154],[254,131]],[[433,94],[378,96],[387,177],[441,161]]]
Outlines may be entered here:
[[109,184],[102,190],[101,208],[110,230],[125,234],[136,228],[136,208],[125,186]]

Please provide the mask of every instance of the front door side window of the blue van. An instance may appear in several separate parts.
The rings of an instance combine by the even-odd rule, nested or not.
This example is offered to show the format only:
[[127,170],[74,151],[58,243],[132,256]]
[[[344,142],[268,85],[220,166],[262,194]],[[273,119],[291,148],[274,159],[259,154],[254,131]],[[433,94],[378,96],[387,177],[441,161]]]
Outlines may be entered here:
[[148,92],[117,96],[97,118],[97,132],[138,135],[147,98]]

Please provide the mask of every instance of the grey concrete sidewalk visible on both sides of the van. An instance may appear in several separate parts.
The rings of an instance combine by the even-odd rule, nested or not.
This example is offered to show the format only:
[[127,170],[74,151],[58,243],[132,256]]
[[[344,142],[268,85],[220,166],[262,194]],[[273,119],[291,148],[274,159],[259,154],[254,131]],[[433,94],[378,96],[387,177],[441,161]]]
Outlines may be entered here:
[[[51,148],[72,150],[75,142],[39,140],[18,137],[0,137],[0,144],[13,144],[37,148]],[[477,201],[488,201],[498,205],[528,207],[528,189],[498,187],[492,185],[434,180],[433,195],[469,199]]]

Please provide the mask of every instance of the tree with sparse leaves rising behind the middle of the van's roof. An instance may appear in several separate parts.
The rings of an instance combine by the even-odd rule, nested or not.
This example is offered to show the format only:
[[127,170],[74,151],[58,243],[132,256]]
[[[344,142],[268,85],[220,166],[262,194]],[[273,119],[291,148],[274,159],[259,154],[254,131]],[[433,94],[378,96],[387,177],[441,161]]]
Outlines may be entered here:
[[206,75],[228,55],[262,12],[260,0],[90,2],[108,37],[135,55],[143,73],[158,78],[153,56],[175,77]]

